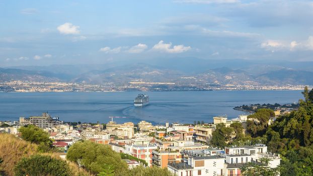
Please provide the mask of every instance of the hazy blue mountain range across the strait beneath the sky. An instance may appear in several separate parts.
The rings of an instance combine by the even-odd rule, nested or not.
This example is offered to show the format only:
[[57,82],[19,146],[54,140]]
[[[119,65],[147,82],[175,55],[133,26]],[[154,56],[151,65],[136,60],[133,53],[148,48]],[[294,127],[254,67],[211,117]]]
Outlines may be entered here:
[[99,65],[14,66],[0,68],[0,80],[110,85],[126,85],[129,81],[181,85],[313,85],[313,62],[160,58]]

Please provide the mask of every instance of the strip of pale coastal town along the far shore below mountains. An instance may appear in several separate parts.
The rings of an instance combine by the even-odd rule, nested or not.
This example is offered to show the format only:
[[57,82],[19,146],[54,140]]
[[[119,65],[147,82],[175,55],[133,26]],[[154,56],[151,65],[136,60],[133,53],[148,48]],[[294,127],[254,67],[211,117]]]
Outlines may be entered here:
[[305,85],[205,84],[129,81],[125,85],[72,82],[0,81],[0,92],[123,92],[123,91],[213,91],[213,90],[303,90]]

